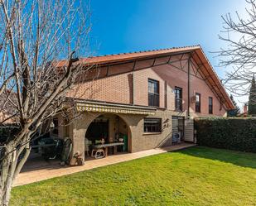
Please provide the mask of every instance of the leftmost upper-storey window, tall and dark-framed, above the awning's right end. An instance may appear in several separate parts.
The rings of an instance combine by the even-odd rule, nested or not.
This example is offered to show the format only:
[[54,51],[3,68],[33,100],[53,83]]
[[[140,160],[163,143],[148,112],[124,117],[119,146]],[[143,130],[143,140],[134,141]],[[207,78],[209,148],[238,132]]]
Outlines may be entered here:
[[159,82],[148,79],[148,106],[159,107]]

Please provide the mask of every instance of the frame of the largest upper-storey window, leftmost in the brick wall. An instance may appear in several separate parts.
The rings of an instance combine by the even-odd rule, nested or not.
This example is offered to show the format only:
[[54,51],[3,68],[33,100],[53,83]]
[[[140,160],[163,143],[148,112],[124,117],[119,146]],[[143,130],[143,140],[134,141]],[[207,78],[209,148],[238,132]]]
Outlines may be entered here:
[[[155,91],[153,91],[153,93],[151,93],[149,91],[149,84],[157,85],[157,93]],[[155,88],[153,90],[155,90]],[[160,84],[159,84],[158,80],[147,79],[147,98],[148,98],[148,106],[159,108],[159,106],[160,106]]]

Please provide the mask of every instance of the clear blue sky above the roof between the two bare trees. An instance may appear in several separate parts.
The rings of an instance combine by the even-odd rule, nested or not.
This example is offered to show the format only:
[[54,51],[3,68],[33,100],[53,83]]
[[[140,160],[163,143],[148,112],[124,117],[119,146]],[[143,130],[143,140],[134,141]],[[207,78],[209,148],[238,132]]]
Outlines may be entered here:
[[[220,79],[213,52],[225,46],[218,35],[222,15],[245,13],[245,0],[91,0],[93,55],[200,45]],[[243,99],[237,99],[242,102]],[[241,106],[242,103],[239,103]]]

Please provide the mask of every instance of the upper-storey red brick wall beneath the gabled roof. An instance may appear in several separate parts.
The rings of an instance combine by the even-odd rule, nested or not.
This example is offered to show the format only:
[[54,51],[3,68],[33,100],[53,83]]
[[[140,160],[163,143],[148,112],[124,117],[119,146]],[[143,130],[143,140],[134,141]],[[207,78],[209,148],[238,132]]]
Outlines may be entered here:
[[[148,79],[159,81],[160,89],[160,108],[165,107],[165,81],[167,81],[167,108],[174,110],[175,86],[182,88],[183,110],[187,110],[187,81],[188,64],[186,55],[174,56],[171,58],[171,65],[159,65],[167,62],[167,57],[159,58],[155,61],[158,66],[150,67],[154,60],[139,61],[134,68],[134,104],[148,104],[147,84]],[[181,60],[181,61],[180,61]],[[77,84],[69,96],[77,98],[89,98],[93,100],[105,101],[110,103],[132,103],[132,87],[134,64],[115,65],[109,67],[108,74],[115,74],[103,79],[97,79],[88,83]],[[190,111],[192,116],[209,116],[208,98],[213,98],[213,115],[224,116],[225,108],[220,110],[220,102],[212,93],[205,80],[196,72],[196,63],[191,64],[191,98],[195,93],[201,94],[201,113],[194,113],[195,103],[191,103]],[[147,69],[142,69],[147,68]],[[117,74],[118,71],[124,74]]]

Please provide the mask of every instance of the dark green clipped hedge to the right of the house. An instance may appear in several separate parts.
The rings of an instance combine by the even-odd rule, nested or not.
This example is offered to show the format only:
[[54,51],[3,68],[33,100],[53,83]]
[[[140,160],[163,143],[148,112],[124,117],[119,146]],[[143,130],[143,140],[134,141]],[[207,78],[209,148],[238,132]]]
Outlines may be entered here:
[[256,153],[256,118],[195,119],[197,143]]

